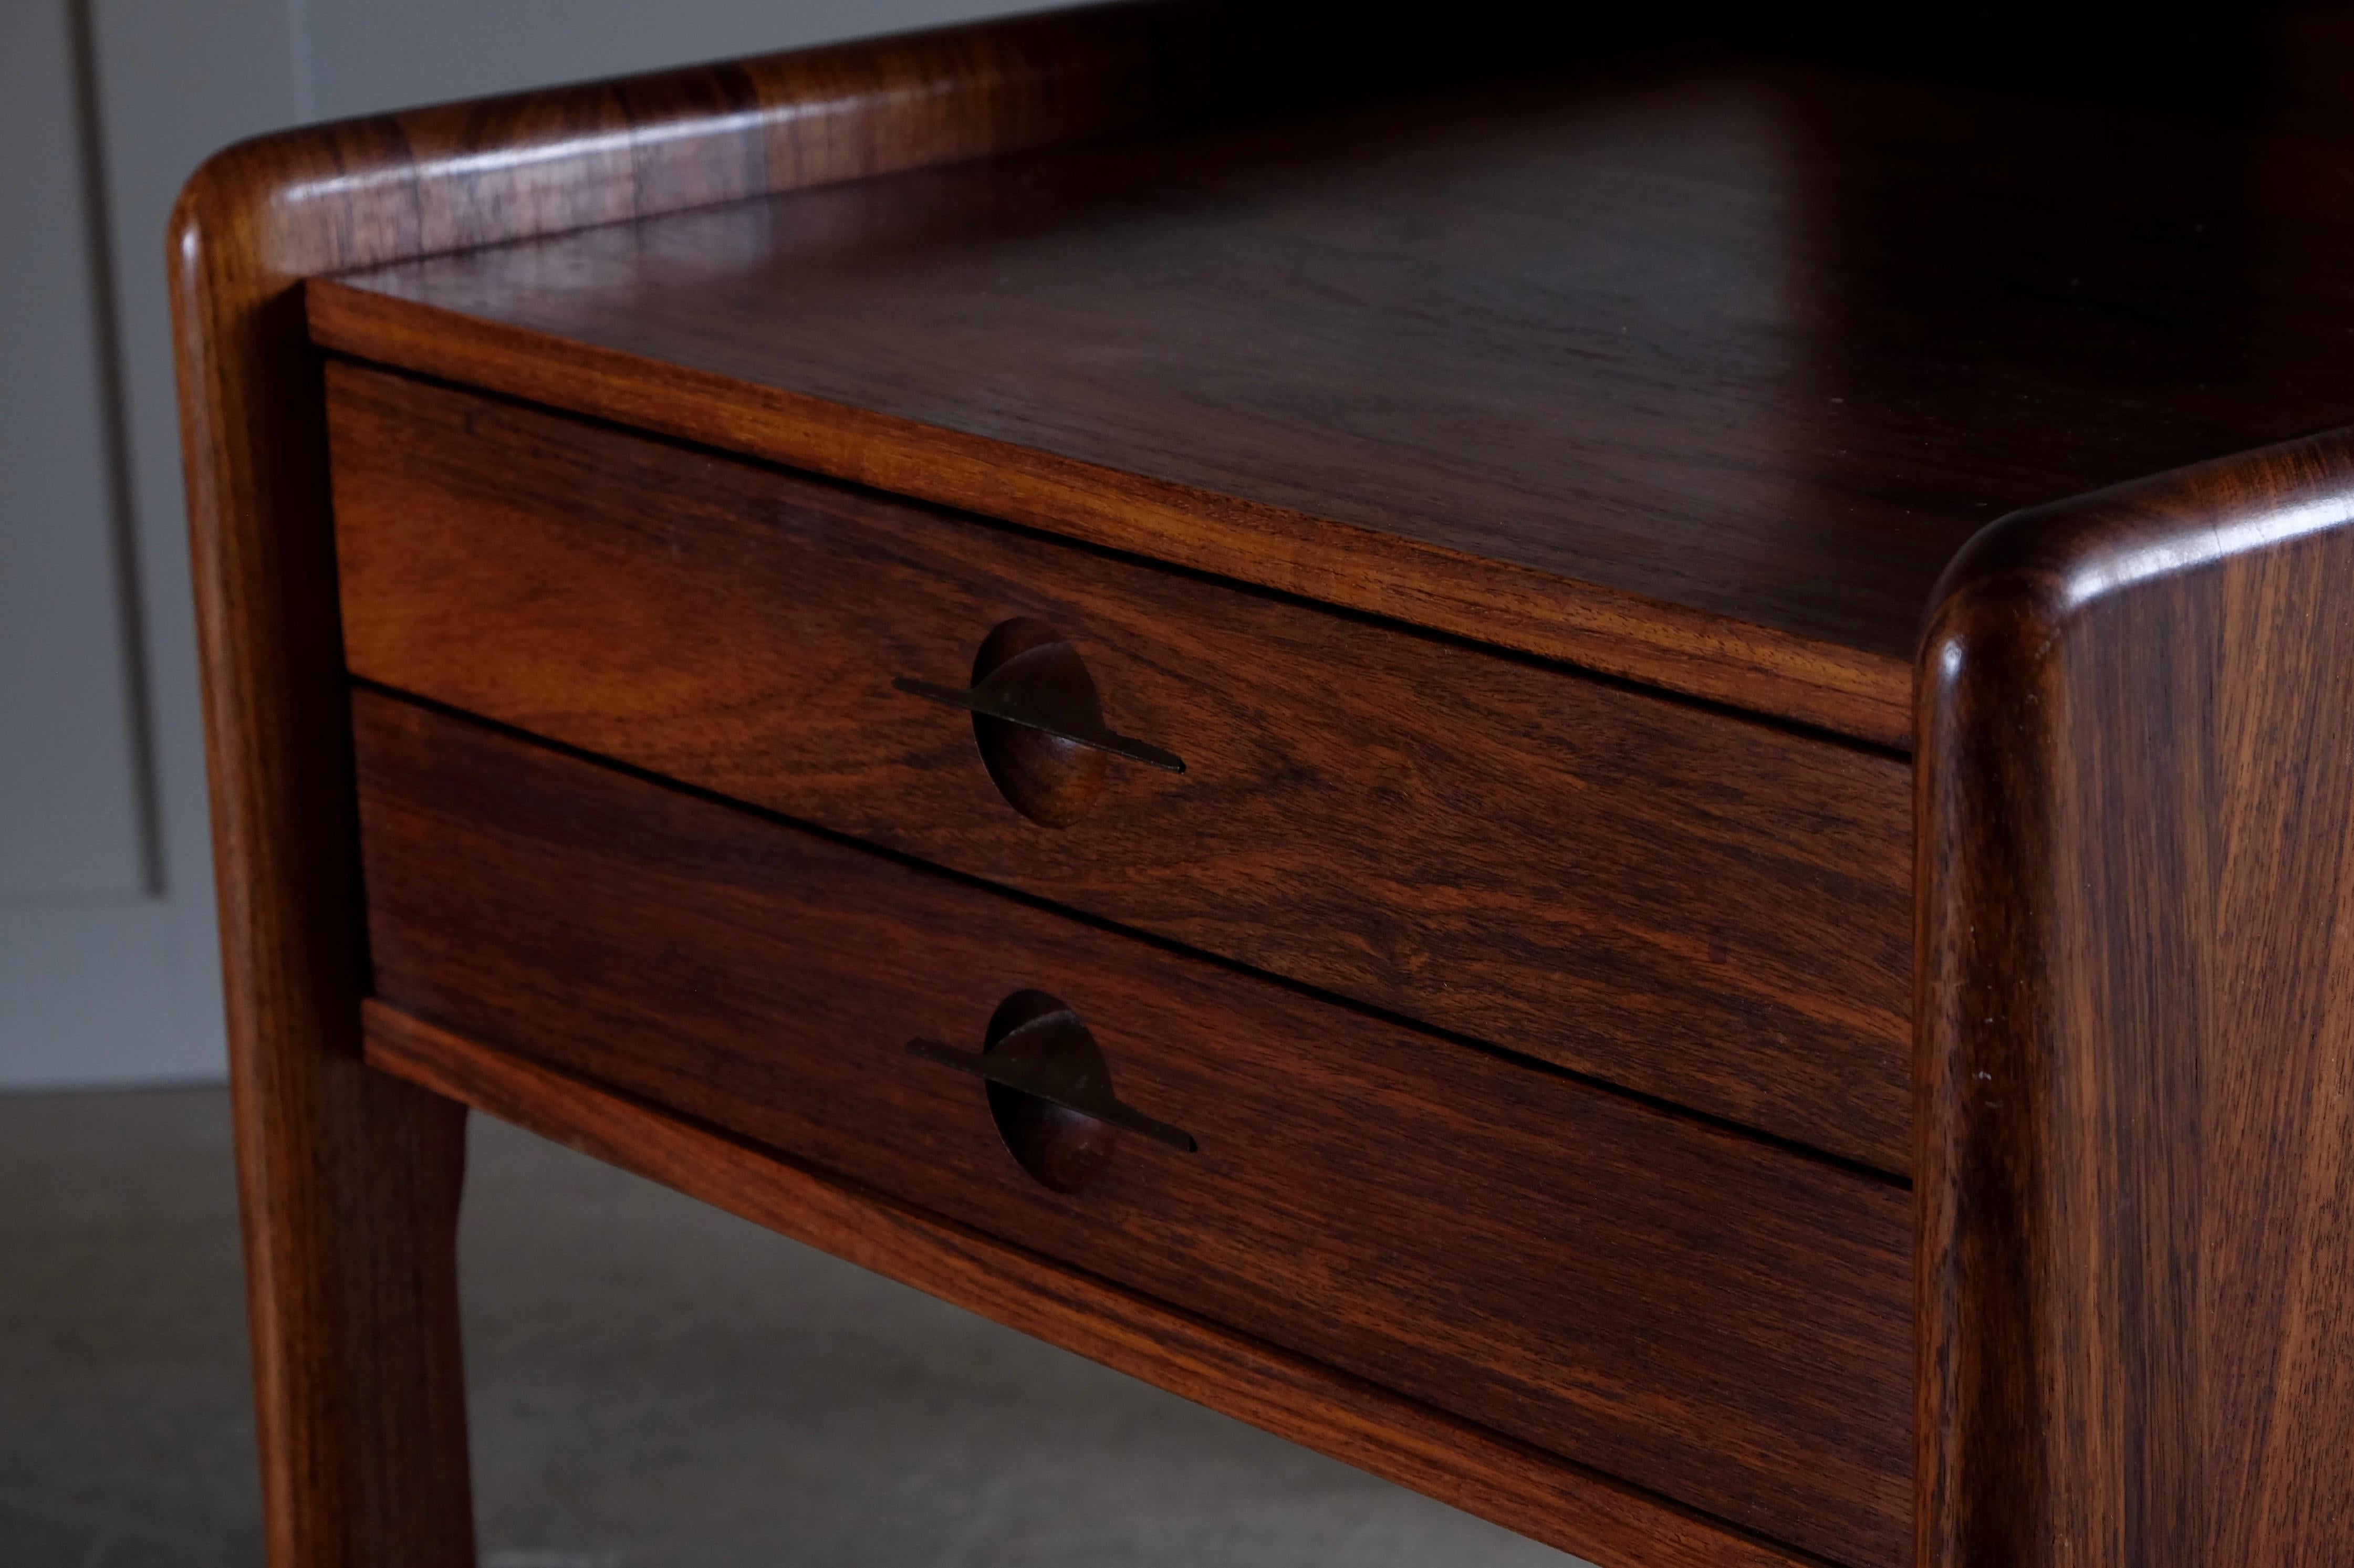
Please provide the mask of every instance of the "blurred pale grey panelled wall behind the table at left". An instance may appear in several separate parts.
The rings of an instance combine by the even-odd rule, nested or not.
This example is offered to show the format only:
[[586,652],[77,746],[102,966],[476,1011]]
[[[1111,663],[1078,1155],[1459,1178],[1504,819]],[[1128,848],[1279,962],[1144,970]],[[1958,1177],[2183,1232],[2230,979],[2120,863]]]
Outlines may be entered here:
[[172,195],[254,132],[1031,9],[0,0],[0,1088],[212,1078]]

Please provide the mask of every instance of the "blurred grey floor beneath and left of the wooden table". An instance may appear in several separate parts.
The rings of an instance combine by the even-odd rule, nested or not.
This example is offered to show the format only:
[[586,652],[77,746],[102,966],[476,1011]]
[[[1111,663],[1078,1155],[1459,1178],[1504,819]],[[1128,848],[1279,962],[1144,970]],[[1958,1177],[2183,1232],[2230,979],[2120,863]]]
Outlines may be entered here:
[[[473,1118],[487,1568],[1575,1568]],[[228,1107],[0,1097],[0,1568],[259,1563]]]

